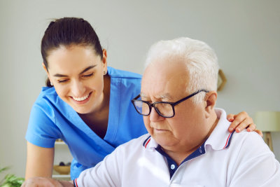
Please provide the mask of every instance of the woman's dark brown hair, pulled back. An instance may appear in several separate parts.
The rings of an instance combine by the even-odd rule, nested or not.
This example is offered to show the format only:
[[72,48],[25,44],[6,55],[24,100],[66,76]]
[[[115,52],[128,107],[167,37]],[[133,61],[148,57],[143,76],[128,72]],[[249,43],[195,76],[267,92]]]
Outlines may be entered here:
[[[96,55],[103,57],[99,38],[89,22],[83,18],[60,18],[50,22],[41,41],[45,68],[48,70],[47,57],[51,50],[71,45],[91,46]],[[52,86],[49,79],[45,81],[45,84],[48,87]]]

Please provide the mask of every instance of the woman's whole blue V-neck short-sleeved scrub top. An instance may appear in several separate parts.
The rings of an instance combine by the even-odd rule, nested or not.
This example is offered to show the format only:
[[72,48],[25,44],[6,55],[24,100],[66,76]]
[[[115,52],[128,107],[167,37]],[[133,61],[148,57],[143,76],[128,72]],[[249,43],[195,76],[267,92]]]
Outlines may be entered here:
[[45,148],[62,139],[73,156],[71,179],[93,167],[117,146],[146,134],[143,117],[131,100],[139,95],[141,75],[108,67],[111,77],[109,123],[104,139],[95,134],[55,88],[44,87],[31,109],[26,139]]

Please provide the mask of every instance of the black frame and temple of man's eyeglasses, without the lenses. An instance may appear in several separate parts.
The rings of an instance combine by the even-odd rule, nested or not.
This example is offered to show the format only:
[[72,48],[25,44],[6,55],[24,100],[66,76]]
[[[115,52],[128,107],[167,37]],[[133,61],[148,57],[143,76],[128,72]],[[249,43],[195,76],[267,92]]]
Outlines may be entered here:
[[[146,102],[146,101],[143,101],[143,100],[137,100],[140,95],[137,95],[137,97],[135,97],[134,99],[132,99],[132,104],[134,106],[134,108],[136,109],[137,113],[141,114],[142,116],[149,116],[151,114],[151,111],[152,111],[152,107],[155,109],[155,111],[157,111],[158,115],[162,116],[163,118],[173,118],[175,116],[175,109],[174,109],[174,106],[176,106],[177,104],[183,102],[183,101],[186,101],[186,99],[189,99],[190,97],[193,97],[195,95],[197,95],[199,92],[209,92],[208,90],[198,90],[197,92],[194,92],[192,93],[191,95],[188,95],[187,97],[184,97],[183,99],[180,99],[179,101],[177,102],[153,102],[153,103],[149,103],[149,102]],[[148,114],[143,114],[143,113],[140,113],[138,110],[137,110],[137,107],[135,106],[134,102],[135,101],[141,101],[141,102],[144,102],[146,104],[148,104],[149,106],[149,112]],[[157,107],[155,107],[155,104],[159,104],[159,103],[163,103],[163,104],[170,104],[172,106],[172,110],[173,110],[173,115],[172,116],[163,116],[160,111],[158,111]]]

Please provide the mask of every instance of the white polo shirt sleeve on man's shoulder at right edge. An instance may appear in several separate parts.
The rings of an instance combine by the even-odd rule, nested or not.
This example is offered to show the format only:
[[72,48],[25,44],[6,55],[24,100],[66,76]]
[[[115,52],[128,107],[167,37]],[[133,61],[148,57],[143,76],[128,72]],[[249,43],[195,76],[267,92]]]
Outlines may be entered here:
[[230,186],[248,186],[248,182],[250,186],[279,186],[279,162],[257,133],[249,133],[241,144]]

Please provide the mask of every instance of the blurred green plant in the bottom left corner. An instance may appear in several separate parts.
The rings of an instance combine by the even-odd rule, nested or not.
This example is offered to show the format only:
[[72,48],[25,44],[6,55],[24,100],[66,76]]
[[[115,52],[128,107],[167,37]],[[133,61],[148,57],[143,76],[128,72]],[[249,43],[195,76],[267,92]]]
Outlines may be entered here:
[[[8,169],[10,169],[10,167],[0,168],[0,174]],[[20,187],[24,181],[24,178],[15,176],[14,174],[7,174],[5,178],[0,181],[0,187]]]

